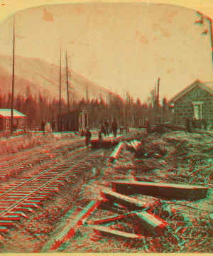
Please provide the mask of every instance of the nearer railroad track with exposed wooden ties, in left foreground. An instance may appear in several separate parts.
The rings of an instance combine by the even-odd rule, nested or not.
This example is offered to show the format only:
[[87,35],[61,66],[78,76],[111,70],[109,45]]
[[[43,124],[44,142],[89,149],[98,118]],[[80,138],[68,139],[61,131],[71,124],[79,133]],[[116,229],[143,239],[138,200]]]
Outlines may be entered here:
[[33,213],[46,200],[59,191],[60,186],[72,181],[75,175],[82,175],[89,163],[101,154],[103,149],[89,150],[89,147],[76,150],[70,157],[59,164],[40,171],[24,181],[0,190],[0,234],[8,233],[16,221],[27,218],[26,213]]

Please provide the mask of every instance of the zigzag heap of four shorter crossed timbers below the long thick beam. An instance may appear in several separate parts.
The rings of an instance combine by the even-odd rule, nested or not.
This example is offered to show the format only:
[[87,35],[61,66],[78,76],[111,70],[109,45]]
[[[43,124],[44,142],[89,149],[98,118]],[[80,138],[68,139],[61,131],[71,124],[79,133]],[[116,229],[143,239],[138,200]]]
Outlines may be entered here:
[[157,216],[151,213],[147,213],[145,211],[149,208],[147,203],[135,198],[131,198],[130,196],[124,196],[121,193],[116,193],[110,189],[102,191],[102,197],[107,201],[119,203],[128,211],[121,215],[114,215],[109,218],[94,220],[94,226],[92,228],[95,233],[98,233],[99,235],[109,235],[116,238],[123,238],[125,240],[144,239],[145,237],[141,234],[126,233],[124,231],[114,230],[104,226],[104,224],[107,223],[109,225],[109,223],[113,223],[116,220],[123,220],[125,222],[126,217],[130,216],[136,217],[134,218],[134,221],[136,221],[135,225],[139,225],[141,233],[143,233],[143,230],[146,230],[148,233],[153,235],[162,235],[165,232],[168,223],[166,223],[164,220],[160,220]]

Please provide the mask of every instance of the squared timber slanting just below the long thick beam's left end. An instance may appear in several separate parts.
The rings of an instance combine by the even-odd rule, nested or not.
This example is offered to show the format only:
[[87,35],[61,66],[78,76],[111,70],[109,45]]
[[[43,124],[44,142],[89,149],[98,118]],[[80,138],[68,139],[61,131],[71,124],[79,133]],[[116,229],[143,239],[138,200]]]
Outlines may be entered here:
[[115,203],[121,204],[121,206],[126,206],[129,209],[143,209],[147,208],[147,204],[142,201],[131,198],[130,196],[124,196],[121,193],[116,193],[114,191],[101,191],[102,197]]

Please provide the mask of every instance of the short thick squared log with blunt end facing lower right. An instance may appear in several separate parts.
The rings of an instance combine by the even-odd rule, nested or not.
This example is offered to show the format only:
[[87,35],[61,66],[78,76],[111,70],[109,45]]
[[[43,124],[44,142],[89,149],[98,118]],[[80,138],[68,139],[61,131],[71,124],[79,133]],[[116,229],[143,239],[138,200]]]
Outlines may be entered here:
[[135,214],[138,222],[141,224],[141,228],[145,228],[150,233],[161,235],[168,223],[165,221],[158,220],[154,215],[146,212],[136,213]]

